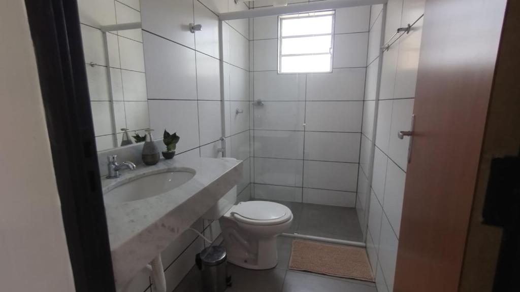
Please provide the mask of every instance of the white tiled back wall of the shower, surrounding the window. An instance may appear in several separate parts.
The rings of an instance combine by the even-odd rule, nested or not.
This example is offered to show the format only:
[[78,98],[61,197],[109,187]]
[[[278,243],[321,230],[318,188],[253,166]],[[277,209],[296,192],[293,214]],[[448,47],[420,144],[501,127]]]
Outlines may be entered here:
[[278,17],[251,20],[255,198],[356,205],[370,12],[336,9],[332,73],[278,74]]

